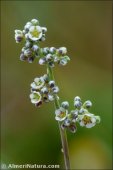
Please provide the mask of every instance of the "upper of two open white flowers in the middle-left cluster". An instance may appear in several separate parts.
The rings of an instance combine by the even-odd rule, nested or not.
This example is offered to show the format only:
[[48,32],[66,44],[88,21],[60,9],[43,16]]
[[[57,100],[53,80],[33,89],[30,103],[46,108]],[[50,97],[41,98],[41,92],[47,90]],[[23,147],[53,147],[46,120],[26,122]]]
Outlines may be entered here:
[[31,83],[31,87],[33,89],[38,90],[38,89],[41,89],[44,86],[44,84],[45,84],[45,81],[44,81],[43,77],[40,77],[40,78],[37,77],[34,79],[34,82]]

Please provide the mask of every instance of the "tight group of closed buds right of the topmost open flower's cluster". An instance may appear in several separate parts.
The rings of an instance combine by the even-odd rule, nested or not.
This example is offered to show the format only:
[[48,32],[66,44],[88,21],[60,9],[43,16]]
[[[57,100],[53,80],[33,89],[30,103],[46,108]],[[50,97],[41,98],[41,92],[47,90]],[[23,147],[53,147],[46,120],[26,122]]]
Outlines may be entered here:
[[66,65],[70,60],[69,56],[67,56],[67,48],[66,47],[45,47],[42,49],[43,57],[39,59],[40,65],[49,64],[50,67],[54,67],[55,63],[59,65]]

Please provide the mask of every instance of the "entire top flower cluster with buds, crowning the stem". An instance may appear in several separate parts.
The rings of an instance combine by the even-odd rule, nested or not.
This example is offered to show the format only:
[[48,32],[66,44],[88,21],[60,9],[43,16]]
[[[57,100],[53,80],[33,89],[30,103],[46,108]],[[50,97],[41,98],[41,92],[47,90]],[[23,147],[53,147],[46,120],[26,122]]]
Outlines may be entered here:
[[55,63],[66,65],[70,58],[67,56],[66,47],[45,47],[40,48],[38,42],[45,40],[46,27],[39,26],[37,19],[32,19],[24,26],[24,30],[15,30],[15,40],[20,43],[24,40],[25,46],[21,50],[20,60],[32,63],[39,58],[39,64],[48,64],[54,67]]

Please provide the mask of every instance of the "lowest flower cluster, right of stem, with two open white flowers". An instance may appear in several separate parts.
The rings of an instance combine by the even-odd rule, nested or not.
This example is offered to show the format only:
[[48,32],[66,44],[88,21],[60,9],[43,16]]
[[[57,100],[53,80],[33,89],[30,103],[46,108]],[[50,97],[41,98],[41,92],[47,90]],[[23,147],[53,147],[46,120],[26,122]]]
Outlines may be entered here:
[[85,101],[82,104],[81,98],[74,98],[75,110],[68,111],[69,103],[67,101],[61,103],[61,107],[55,111],[55,119],[61,122],[61,127],[68,128],[71,132],[76,132],[76,122],[80,126],[91,128],[100,122],[100,117],[90,113],[88,109],[92,106],[91,101]]

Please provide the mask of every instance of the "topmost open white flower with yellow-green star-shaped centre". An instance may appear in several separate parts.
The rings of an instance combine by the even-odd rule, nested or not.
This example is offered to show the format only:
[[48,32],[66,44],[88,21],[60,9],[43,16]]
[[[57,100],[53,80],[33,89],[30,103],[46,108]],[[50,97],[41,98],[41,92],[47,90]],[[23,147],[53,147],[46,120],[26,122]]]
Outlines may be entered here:
[[42,37],[42,28],[40,26],[31,26],[28,36],[32,41],[37,41]]

